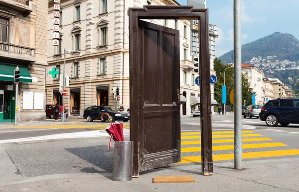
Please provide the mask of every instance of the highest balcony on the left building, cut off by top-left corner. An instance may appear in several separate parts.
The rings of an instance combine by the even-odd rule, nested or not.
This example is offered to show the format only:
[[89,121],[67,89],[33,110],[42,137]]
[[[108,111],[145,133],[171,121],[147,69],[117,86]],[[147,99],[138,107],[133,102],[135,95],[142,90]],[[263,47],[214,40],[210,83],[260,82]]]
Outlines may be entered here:
[[32,12],[32,0],[0,0],[0,3],[23,12],[24,16]]

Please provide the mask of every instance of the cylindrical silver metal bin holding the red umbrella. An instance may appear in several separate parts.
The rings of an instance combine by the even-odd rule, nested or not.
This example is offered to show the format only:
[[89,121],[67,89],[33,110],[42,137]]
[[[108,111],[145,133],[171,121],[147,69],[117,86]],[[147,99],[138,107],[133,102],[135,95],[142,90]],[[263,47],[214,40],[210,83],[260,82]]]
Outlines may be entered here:
[[131,181],[133,176],[133,141],[114,144],[113,181]]

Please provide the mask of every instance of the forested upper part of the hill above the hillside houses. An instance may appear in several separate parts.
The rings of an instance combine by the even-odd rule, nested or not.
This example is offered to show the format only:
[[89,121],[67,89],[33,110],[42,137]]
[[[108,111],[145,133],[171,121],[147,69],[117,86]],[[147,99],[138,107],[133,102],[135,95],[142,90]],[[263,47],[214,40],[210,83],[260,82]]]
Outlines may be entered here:
[[[299,41],[289,33],[275,32],[271,35],[242,45],[242,63],[253,57],[277,56],[277,60],[299,61]],[[224,64],[234,62],[234,51],[230,51],[220,59]]]

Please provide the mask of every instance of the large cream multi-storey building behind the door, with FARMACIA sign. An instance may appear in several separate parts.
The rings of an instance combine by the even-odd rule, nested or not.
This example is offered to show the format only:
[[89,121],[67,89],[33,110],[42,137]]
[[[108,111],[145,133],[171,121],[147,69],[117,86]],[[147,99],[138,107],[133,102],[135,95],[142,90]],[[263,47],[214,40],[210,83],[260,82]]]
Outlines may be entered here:
[[[62,103],[61,82],[63,50],[66,54],[65,73],[70,76],[66,87],[65,105],[71,116],[82,116],[91,105],[123,103],[129,108],[129,7],[144,5],[179,5],[175,0],[61,0],[60,44],[52,45],[53,21],[48,22],[49,66],[46,72],[46,103]],[[49,18],[53,17],[49,2]],[[191,96],[198,97],[198,75],[193,69],[190,46],[190,22],[187,20],[147,20],[180,31],[181,115],[190,115]],[[54,68],[54,69],[53,69]],[[54,78],[48,72],[60,71]],[[69,81],[69,79],[67,79]],[[115,90],[119,88],[120,101]],[[198,102],[193,104],[197,108]]]

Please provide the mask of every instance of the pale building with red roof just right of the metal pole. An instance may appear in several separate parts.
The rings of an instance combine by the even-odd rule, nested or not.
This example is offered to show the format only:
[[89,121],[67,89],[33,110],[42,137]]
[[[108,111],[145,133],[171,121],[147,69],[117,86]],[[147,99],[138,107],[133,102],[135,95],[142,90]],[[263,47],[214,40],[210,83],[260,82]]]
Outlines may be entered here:
[[264,73],[250,64],[242,64],[242,73],[248,79],[250,88],[255,93],[255,104],[263,105],[263,78]]

